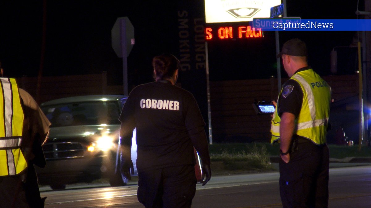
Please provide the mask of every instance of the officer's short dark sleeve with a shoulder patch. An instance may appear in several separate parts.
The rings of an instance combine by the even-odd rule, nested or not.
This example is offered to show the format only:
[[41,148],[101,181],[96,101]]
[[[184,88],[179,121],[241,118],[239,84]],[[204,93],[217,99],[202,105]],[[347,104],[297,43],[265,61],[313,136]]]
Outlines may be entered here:
[[278,115],[292,113],[297,118],[303,103],[303,91],[295,80],[289,80],[283,85],[282,93],[278,100]]

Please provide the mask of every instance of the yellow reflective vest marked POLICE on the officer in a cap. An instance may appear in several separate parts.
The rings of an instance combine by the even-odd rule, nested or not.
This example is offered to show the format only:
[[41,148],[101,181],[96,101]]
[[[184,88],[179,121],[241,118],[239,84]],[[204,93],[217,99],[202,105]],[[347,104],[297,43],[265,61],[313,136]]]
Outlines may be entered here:
[[[294,134],[307,138],[318,145],[326,143],[331,87],[312,69],[299,71],[290,79],[298,82],[303,91],[303,102],[299,116],[296,118]],[[277,107],[272,119],[270,130],[272,133],[271,143],[280,139],[279,126],[281,118],[278,115],[278,108],[279,99],[277,100]]]

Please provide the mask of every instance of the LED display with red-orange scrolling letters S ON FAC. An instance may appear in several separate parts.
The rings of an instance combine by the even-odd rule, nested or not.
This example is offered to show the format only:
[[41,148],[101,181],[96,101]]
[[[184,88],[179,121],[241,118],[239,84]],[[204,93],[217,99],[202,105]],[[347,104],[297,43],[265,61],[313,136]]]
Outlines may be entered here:
[[261,28],[252,26],[228,26],[228,27],[206,27],[206,40],[248,39],[262,38]]

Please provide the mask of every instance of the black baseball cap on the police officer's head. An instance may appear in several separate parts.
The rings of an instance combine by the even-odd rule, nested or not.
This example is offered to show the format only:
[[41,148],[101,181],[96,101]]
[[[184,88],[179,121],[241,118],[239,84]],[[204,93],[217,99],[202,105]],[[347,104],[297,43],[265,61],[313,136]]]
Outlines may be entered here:
[[283,44],[282,51],[277,54],[277,58],[281,57],[282,54],[290,56],[307,56],[306,45],[300,39],[293,38]]

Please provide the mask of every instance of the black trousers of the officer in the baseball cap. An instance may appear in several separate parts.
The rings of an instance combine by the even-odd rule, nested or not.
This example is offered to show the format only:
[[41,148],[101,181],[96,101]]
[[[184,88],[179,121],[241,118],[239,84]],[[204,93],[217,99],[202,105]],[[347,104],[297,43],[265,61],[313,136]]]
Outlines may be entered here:
[[329,149],[311,141],[297,144],[286,164],[280,160],[283,207],[328,207]]

